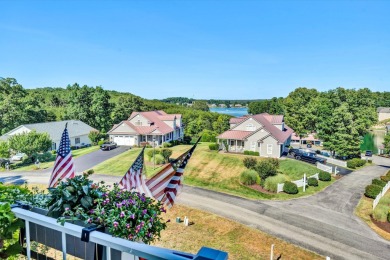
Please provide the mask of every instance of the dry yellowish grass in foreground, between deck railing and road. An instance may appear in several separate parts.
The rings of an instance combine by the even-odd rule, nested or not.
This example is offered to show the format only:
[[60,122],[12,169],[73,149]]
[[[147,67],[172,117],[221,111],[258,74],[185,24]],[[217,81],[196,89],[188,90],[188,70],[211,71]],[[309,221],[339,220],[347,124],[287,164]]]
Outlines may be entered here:
[[[189,218],[194,225],[188,227],[176,223],[176,217]],[[274,259],[324,259],[323,256],[289,244],[276,237],[252,229],[232,220],[201,210],[175,204],[168,212],[171,220],[168,228],[162,231],[161,240],[156,246],[197,253],[207,246],[229,253],[229,259],[269,259],[271,245],[274,244]]]

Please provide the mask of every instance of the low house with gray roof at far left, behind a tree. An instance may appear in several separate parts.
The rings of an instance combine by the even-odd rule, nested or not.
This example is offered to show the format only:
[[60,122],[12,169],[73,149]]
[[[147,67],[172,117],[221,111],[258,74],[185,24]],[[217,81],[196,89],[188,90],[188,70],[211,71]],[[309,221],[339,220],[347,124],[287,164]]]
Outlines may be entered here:
[[57,122],[45,122],[45,123],[20,125],[15,129],[12,129],[8,133],[2,135],[0,139],[7,140],[9,137],[13,135],[29,133],[32,130],[36,130],[38,133],[48,133],[51,140],[53,141],[51,150],[57,150],[60,145],[62,132],[65,129],[66,123],[68,123],[68,133],[69,133],[71,146],[78,145],[81,143],[85,143],[85,144],[91,143],[91,141],[88,138],[88,134],[92,130],[95,131],[97,130],[80,120],[65,120],[65,121],[57,121]]

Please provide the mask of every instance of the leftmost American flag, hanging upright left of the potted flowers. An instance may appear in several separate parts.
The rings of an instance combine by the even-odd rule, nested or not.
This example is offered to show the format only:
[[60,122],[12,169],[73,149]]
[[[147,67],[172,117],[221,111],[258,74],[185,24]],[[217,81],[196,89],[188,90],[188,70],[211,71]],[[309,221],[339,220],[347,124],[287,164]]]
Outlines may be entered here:
[[54,163],[54,168],[49,181],[49,188],[56,187],[59,179],[70,179],[75,176],[67,126],[68,123],[66,123],[65,130],[62,133],[60,147],[57,151],[56,162]]

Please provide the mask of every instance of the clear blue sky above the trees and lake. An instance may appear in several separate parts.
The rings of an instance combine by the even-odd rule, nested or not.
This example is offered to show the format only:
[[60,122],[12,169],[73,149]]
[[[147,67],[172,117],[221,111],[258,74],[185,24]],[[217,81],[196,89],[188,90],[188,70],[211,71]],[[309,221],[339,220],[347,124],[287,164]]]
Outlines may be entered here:
[[0,1],[0,76],[145,98],[390,91],[390,1]]

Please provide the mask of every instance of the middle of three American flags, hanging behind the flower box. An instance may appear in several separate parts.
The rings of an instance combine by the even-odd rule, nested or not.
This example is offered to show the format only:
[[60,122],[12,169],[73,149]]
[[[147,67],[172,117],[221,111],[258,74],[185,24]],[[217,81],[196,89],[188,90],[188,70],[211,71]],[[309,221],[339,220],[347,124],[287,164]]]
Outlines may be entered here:
[[149,190],[145,185],[144,175],[142,174],[144,168],[144,150],[145,147],[142,149],[137,159],[135,159],[134,163],[126,172],[125,176],[123,176],[119,184],[122,185],[122,187],[126,190],[135,189],[139,193],[149,194]]

